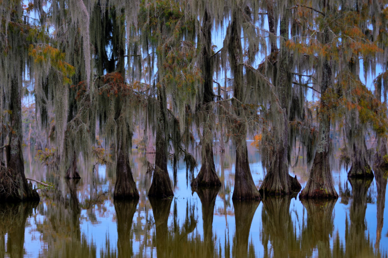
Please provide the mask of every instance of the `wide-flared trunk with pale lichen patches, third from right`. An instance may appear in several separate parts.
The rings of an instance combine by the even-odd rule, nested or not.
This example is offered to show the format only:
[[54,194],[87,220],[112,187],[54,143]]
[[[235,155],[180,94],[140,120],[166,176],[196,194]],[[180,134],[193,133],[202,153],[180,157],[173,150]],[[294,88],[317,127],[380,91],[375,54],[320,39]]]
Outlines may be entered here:
[[315,152],[314,163],[310,170],[310,176],[299,198],[338,198],[329,164],[330,117],[327,103],[325,103],[322,97],[331,84],[331,67],[327,60],[323,64],[322,76],[319,142],[317,152]]

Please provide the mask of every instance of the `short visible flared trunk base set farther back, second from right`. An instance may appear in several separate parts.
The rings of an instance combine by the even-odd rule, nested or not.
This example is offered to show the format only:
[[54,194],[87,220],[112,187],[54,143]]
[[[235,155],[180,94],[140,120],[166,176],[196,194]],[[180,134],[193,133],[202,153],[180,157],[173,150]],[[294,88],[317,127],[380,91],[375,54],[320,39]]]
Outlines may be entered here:
[[373,178],[372,168],[369,166],[366,153],[364,135],[356,135],[359,140],[355,140],[352,152],[352,167],[350,167],[348,177],[354,178]]

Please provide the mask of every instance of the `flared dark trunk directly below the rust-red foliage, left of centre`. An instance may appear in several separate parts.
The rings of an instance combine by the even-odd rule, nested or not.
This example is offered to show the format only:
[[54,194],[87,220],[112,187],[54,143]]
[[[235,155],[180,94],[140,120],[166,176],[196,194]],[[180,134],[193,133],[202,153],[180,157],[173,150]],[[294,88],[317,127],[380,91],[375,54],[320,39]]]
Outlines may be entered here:
[[[121,123],[119,121],[118,123]],[[114,199],[138,199],[139,191],[133,180],[132,170],[129,165],[129,128],[119,126],[121,132],[117,132],[117,163],[116,163],[116,184],[114,185]],[[130,137],[129,137],[130,138]]]

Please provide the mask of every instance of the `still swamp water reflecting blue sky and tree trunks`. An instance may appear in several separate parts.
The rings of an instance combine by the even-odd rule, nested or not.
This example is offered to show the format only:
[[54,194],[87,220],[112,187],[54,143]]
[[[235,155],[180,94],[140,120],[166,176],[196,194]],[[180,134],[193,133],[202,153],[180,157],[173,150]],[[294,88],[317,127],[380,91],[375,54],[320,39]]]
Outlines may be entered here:
[[[260,157],[248,149],[259,188],[264,177]],[[388,171],[374,171],[373,181],[348,181],[345,167],[333,160],[338,200],[233,202],[235,160],[229,148],[215,157],[220,188],[193,192],[190,171],[181,161],[176,183],[169,167],[175,196],[155,200],[147,197],[151,179],[144,166],[155,157],[134,150],[131,167],[140,199],[113,201],[112,165],[96,165],[93,171],[94,164],[80,158],[82,179],[65,181],[65,170],[42,166],[34,155],[33,150],[24,152],[26,177],[56,187],[38,190],[40,203],[0,204],[0,258],[387,257]],[[291,165],[295,161],[293,157]],[[302,159],[290,167],[302,187],[307,171]]]

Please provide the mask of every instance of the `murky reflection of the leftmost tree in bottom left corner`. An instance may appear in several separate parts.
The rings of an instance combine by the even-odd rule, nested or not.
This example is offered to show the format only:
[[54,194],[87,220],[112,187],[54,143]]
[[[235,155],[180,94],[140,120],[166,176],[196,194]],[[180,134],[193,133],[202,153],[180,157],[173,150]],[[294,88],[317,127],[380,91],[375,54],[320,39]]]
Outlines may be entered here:
[[[1,203],[0,257],[23,257],[26,221],[36,206],[38,206],[37,202]],[[5,234],[7,234],[7,243],[5,243]]]

